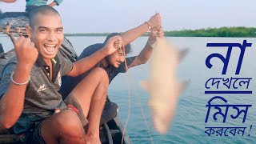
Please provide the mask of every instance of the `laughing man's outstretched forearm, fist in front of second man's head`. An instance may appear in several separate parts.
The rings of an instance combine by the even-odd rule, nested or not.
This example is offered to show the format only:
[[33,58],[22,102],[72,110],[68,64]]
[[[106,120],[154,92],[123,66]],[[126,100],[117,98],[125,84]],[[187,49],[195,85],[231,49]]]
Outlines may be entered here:
[[110,38],[101,50],[96,51],[89,57],[82,58],[77,62],[74,62],[73,69],[67,75],[74,77],[85,73],[101,61],[102,58],[114,53],[114,51],[118,50],[120,47],[122,47],[122,38],[120,36]]

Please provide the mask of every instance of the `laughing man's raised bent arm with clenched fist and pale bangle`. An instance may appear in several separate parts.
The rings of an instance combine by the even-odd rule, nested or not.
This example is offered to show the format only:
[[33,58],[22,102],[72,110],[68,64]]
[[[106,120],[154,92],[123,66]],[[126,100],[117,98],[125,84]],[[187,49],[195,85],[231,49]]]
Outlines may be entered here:
[[30,41],[30,38],[18,38],[15,42],[14,50],[18,60],[14,68],[14,74],[8,74],[7,72],[5,76],[8,77],[3,78],[2,82],[0,82],[1,86],[7,84],[3,83],[3,81],[10,82],[12,78],[8,89],[0,101],[0,123],[6,129],[13,126],[22,114],[26,86],[30,79],[30,71],[38,58],[38,50],[34,48],[34,43]]

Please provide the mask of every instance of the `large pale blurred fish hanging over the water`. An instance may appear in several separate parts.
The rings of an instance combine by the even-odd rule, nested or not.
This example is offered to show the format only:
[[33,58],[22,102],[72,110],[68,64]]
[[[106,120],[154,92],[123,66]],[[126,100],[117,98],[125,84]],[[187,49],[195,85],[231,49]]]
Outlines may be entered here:
[[178,96],[186,86],[186,83],[178,82],[176,75],[182,56],[166,38],[157,38],[151,46],[154,52],[150,61],[150,79],[141,86],[150,94],[148,106],[155,130],[166,134],[174,118]]

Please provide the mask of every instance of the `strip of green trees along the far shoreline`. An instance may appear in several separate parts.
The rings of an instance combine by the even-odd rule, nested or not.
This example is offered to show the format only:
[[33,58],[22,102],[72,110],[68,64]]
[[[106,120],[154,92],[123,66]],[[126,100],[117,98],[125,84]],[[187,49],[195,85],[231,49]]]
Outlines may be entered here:
[[[65,36],[107,36],[110,33],[65,34]],[[147,36],[148,34],[144,34]],[[173,30],[166,31],[166,37],[250,37],[256,38],[254,27],[221,27],[199,30]]]

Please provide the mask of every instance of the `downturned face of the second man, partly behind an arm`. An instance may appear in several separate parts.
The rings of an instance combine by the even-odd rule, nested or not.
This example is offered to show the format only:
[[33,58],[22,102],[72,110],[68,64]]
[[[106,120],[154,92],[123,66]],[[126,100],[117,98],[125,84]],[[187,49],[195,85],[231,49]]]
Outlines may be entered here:
[[111,66],[118,68],[122,62],[125,61],[126,54],[121,49],[116,50],[113,54],[110,54],[107,59]]

